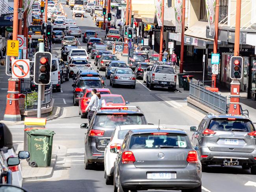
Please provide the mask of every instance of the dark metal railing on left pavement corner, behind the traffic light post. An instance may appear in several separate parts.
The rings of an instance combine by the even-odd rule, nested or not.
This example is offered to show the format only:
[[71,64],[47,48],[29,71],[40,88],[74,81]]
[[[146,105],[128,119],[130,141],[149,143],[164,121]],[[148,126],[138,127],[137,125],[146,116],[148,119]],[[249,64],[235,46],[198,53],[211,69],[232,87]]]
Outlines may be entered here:
[[[37,91],[25,91],[25,111],[37,109]],[[52,84],[45,87],[45,100],[42,101],[42,107],[50,107],[52,101]]]

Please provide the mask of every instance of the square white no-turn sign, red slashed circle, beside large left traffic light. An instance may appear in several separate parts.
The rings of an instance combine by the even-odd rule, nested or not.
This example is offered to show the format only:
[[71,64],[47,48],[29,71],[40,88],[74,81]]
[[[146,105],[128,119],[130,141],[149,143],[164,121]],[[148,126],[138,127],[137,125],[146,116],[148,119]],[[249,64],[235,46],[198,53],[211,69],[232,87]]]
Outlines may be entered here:
[[12,78],[29,78],[30,67],[29,59],[13,59],[11,61],[11,77]]

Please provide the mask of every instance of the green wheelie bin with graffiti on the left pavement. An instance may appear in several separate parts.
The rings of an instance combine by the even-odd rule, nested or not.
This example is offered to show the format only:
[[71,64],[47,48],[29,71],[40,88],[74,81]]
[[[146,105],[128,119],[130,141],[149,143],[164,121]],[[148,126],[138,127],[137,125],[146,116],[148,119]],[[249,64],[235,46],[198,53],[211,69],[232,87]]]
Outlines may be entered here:
[[47,167],[52,159],[52,140],[54,131],[49,129],[34,129],[27,131],[29,165],[32,167]]

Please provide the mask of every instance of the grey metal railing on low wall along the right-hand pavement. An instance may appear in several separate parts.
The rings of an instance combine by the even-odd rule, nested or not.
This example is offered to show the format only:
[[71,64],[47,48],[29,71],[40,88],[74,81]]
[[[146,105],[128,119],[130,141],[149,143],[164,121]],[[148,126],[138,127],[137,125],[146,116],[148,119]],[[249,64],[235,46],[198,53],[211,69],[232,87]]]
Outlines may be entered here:
[[[205,81],[204,81],[205,82]],[[216,92],[212,92],[203,86],[202,81],[193,81],[189,83],[189,97],[199,103],[210,107],[211,109],[226,114],[227,98]]]

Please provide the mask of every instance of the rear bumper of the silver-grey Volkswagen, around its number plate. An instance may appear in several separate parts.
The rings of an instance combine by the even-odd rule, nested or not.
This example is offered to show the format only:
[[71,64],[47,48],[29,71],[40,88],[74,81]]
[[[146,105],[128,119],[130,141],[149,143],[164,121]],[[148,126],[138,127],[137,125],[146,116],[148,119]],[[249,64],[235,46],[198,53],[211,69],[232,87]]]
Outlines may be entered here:
[[[176,179],[147,179],[147,172],[176,172]],[[186,168],[135,168],[134,164],[119,165],[121,185],[128,189],[183,189],[195,188],[201,183],[200,164]]]

